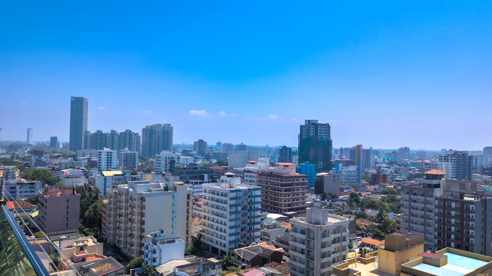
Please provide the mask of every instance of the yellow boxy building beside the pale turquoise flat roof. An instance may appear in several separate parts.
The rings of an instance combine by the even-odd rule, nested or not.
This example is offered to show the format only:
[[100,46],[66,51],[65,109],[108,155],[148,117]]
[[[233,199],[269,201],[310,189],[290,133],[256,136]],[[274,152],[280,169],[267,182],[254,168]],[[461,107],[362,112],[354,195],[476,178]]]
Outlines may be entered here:
[[402,264],[420,258],[424,252],[424,236],[392,233],[384,237],[385,244],[377,248],[377,270],[398,275]]

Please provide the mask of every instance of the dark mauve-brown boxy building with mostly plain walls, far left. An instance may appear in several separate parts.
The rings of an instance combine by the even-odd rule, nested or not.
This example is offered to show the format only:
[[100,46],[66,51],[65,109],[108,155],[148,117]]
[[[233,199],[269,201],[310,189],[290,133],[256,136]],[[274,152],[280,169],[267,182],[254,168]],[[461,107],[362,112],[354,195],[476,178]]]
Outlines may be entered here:
[[46,187],[39,191],[39,230],[46,234],[79,229],[80,195],[75,187]]

